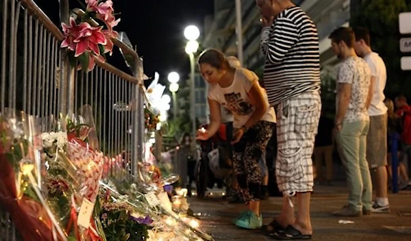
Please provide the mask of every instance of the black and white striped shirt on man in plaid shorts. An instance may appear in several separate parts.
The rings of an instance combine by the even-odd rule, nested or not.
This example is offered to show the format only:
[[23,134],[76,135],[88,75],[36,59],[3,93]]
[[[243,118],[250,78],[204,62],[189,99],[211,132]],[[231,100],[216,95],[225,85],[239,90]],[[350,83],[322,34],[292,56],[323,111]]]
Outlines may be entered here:
[[299,7],[284,10],[261,34],[266,58],[264,88],[270,105],[303,92],[319,90],[319,37],[310,17]]

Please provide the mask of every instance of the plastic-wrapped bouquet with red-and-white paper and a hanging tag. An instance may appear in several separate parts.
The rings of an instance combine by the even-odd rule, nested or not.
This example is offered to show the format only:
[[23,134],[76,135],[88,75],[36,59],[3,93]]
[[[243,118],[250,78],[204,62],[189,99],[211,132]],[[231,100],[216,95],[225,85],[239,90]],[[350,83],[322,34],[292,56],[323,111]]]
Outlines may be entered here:
[[77,119],[80,117],[67,120],[67,133],[42,134],[47,200],[67,238],[105,240],[99,219],[93,215],[103,154],[88,144],[92,127]]

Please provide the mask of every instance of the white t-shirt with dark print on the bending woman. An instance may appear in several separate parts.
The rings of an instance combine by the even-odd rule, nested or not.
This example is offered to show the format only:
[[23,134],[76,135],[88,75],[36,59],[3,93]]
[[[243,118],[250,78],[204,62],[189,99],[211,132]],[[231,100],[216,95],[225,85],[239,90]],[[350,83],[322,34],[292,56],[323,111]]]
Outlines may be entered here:
[[[245,68],[237,68],[231,86],[222,88],[219,84],[210,84],[208,88],[208,98],[219,102],[220,105],[223,105],[233,113],[234,128],[240,128],[242,125],[245,125],[256,110],[256,107],[251,105],[248,96],[248,92],[255,82],[258,84],[258,76],[256,73]],[[260,84],[258,84],[258,87],[261,89],[264,101],[266,101],[268,105],[269,99],[266,91]],[[269,107],[260,121],[277,122],[273,107]]]

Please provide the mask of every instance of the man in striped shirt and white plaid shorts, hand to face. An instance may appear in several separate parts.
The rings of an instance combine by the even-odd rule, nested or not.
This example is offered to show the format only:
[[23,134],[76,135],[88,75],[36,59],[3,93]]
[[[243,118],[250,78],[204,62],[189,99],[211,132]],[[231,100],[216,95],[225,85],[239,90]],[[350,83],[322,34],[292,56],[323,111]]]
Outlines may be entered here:
[[275,174],[284,195],[281,214],[262,231],[277,239],[310,239],[312,152],[321,114],[319,38],[313,21],[292,1],[256,4],[262,15],[264,88],[278,116]]

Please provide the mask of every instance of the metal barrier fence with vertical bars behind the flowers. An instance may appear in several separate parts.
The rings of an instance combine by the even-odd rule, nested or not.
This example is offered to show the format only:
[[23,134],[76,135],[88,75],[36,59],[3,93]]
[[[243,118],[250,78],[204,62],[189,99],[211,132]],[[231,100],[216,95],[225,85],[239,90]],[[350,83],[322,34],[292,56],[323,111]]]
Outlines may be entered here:
[[[0,9],[0,112],[14,108],[38,116],[42,131],[53,130],[60,114],[92,116],[87,121],[96,127],[101,151],[121,155],[135,174],[144,140],[144,74],[136,51],[113,40],[133,75],[97,61],[90,73],[77,72],[60,49],[62,32],[33,0],[0,0]],[[64,22],[69,9],[69,0],[61,0]],[[0,207],[0,240],[19,240],[4,211]]]

